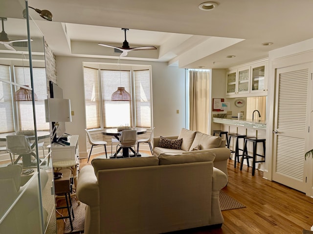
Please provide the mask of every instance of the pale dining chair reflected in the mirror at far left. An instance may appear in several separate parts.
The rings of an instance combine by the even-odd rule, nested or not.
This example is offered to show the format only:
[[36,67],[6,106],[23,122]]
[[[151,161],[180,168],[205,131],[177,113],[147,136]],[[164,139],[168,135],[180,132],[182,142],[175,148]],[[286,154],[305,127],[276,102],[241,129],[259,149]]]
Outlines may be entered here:
[[[13,164],[17,164],[23,155],[32,155],[31,153],[33,153],[28,138],[25,135],[6,136],[6,148],[10,153],[11,159],[13,154]],[[15,155],[19,155],[16,160]],[[33,156],[36,158],[36,155]]]

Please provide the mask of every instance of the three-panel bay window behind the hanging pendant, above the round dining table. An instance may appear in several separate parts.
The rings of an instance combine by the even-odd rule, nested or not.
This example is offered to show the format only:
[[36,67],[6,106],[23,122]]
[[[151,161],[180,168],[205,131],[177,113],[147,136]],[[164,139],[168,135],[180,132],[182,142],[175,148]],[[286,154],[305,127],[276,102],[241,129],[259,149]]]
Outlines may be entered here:
[[[129,65],[123,66],[123,70],[119,67],[116,69],[116,65],[100,67],[84,67],[87,128],[112,128],[121,125],[151,128],[150,66]],[[125,87],[132,100],[111,101],[111,95],[117,87]]]

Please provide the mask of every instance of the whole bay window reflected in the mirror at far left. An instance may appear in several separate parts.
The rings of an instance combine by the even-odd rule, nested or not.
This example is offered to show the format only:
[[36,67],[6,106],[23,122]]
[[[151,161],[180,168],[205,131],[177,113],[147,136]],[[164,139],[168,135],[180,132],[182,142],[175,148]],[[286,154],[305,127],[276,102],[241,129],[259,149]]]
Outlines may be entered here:
[[[13,70],[13,72],[11,72]],[[48,130],[45,122],[45,104],[47,98],[45,68],[33,68],[37,130]],[[33,108],[31,101],[13,102],[14,89],[10,82],[30,86],[29,67],[0,65],[0,116],[5,119],[0,125],[0,133],[34,129]],[[16,86],[16,89],[19,89]]]

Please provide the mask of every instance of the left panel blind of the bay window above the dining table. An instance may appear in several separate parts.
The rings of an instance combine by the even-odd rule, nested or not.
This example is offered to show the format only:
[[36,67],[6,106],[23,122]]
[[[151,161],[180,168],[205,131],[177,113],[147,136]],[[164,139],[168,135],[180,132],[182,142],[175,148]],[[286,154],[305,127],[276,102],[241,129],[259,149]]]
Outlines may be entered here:
[[100,128],[98,70],[84,68],[87,128]]

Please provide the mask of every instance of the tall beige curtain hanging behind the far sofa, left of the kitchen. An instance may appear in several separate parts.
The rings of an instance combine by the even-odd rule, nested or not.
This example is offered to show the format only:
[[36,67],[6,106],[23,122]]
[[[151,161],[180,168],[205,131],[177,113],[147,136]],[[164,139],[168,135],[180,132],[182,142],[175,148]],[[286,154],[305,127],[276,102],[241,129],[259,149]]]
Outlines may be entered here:
[[209,71],[189,70],[189,129],[208,133]]

